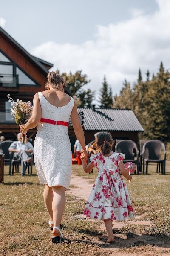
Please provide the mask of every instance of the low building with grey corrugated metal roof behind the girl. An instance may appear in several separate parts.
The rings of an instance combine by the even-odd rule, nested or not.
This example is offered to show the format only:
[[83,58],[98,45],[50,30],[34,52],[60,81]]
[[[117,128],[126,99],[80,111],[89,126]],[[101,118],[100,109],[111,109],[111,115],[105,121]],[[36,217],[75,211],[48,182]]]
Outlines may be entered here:
[[[96,108],[92,105],[92,108],[78,108],[78,113],[84,129],[86,145],[94,140],[94,134],[98,131],[111,132],[114,140],[133,140],[136,143],[139,142],[139,132],[144,131],[133,111],[129,109]],[[71,145],[73,145],[76,137],[71,122],[69,127]]]

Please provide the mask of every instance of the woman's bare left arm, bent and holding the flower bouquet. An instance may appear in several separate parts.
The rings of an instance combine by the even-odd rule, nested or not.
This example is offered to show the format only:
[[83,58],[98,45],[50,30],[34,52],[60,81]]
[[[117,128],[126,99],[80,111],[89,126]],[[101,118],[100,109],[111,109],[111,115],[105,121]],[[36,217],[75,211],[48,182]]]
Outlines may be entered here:
[[30,119],[25,125],[20,125],[20,131],[25,133],[30,129],[34,129],[40,122],[41,119],[41,105],[40,105],[40,100],[39,100],[39,95],[36,93],[34,95],[33,99],[33,111]]

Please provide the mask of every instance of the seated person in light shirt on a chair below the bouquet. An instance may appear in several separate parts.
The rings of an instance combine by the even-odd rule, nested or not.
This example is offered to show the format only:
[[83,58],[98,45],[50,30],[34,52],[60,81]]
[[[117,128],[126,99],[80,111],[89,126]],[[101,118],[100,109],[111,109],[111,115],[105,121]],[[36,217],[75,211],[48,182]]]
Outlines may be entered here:
[[21,160],[21,175],[26,174],[27,163],[31,163],[33,158],[31,153],[33,152],[33,145],[28,143],[20,143],[21,132],[17,135],[17,141],[14,141],[10,147],[9,152],[14,152],[14,159]]

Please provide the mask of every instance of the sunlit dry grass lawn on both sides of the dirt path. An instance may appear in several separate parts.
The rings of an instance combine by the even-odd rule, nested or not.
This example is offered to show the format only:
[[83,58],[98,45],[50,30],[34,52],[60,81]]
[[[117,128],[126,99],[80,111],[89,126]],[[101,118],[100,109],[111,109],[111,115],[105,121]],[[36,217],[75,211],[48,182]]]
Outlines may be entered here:
[[[156,174],[156,167],[149,166],[149,175],[133,175],[133,181],[127,183],[136,215],[151,220],[154,227],[123,228],[124,234],[147,233],[164,237],[170,236],[170,162],[167,162],[167,174]],[[82,167],[74,165],[73,171],[82,177],[93,175],[82,172]],[[102,235],[98,222],[77,220],[75,215],[82,213],[85,201],[67,195],[67,203],[62,224],[63,233],[71,244],[52,244],[51,230],[48,229],[48,214],[43,203],[43,186],[40,185],[35,167],[33,176],[14,173],[8,175],[5,168],[4,184],[0,184],[0,256],[74,256],[74,255],[110,255],[94,239]],[[134,248],[120,248],[122,252],[134,252]],[[130,251],[131,250],[131,251]],[[150,247],[149,249],[150,250]],[[101,253],[102,252],[102,253]],[[162,254],[163,255],[163,254]]]

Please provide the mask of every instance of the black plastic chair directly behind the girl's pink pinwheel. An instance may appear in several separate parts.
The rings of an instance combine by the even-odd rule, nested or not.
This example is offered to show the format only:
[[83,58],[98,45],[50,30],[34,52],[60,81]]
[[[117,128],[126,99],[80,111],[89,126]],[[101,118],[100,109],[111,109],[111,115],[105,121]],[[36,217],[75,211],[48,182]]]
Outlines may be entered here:
[[[134,151],[136,151],[136,159]],[[139,150],[133,140],[120,140],[115,146],[115,152],[125,154],[123,163],[135,163],[137,166],[137,174],[139,174]]]

